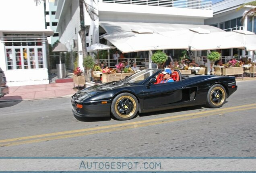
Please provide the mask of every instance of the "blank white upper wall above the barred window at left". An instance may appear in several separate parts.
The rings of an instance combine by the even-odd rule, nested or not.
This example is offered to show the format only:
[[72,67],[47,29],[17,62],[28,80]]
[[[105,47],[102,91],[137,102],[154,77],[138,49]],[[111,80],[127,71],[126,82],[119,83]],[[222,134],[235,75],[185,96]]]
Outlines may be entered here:
[[0,30],[42,30],[45,28],[43,2],[0,0]]

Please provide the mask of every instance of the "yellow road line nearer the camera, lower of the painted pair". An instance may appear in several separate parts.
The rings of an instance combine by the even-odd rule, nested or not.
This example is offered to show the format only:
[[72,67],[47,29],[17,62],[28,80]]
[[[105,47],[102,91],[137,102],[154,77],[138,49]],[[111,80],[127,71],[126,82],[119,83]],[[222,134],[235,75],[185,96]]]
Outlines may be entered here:
[[[222,110],[219,111],[219,113],[230,113],[230,112],[235,112],[235,111],[244,111],[244,110],[249,110],[249,109],[256,109],[256,107],[250,107],[250,108],[243,108],[243,109],[233,109],[233,110]],[[126,127],[117,127],[117,128],[111,128],[111,129],[103,129],[103,130],[98,130],[98,131],[89,131],[85,133],[76,133],[76,134],[70,134],[70,135],[62,135],[62,136],[57,136],[57,137],[48,137],[48,138],[43,138],[43,139],[33,139],[29,141],[17,141],[14,143],[6,143],[2,144],[2,146],[13,146],[13,145],[21,145],[21,144],[28,144],[28,143],[36,143],[36,142],[42,142],[42,141],[50,141],[50,140],[56,140],[56,139],[64,139],[64,138],[70,138],[70,137],[78,137],[78,136],[84,136],[84,135],[93,135],[97,133],[106,133],[106,132],[112,132],[112,131],[121,131],[125,129],[134,129],[138,127],[146,127],[146,126],[151,126],[151,125],[159,125],[163,123],[170,123],[170,122],[175,122],[175,121],[182,121],[182,120],[188,120],[188,119],[196,119],[200,117],[207,117],[207,116],[212,116],[216,115],[215,112],[212,112],[210,114],[207,114],[204,112],[205,115],[197,115],[194,117],[179,117],[177,119],[169,119],[169,120],[163,120],[163,121],[156,121],[156,122],[149,122],[145,124],[136,124],[132,126],[126,126]],[[2,147],[1,146],[1,147]]]

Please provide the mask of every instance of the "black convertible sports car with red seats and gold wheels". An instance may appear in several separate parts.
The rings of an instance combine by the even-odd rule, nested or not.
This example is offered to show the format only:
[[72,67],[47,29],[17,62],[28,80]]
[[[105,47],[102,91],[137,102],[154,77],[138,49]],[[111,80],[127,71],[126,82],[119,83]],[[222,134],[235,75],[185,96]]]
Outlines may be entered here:
[[221,107],[237,90],[234,76],[182,75],[172,73],[175,82],[160,83],[163,69],[145,69],[120,81],[95,85],[71,97],[75,117],[132,119],[146,113],[207,105]]

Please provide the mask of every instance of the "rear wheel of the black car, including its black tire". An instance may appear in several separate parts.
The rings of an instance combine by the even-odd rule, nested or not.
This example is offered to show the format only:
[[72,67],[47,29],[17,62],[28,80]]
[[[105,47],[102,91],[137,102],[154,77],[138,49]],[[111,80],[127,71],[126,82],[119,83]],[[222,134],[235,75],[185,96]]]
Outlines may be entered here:
[[221,84],[214,84],[208,91],[206,105],[210,108],[219,108],[225,103],[227,92]]

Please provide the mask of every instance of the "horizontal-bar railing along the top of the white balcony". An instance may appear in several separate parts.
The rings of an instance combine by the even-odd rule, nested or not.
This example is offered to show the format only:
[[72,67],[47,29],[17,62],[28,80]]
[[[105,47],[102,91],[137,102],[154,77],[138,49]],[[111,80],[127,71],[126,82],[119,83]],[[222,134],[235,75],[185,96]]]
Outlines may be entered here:
[[147,6],[165,6],[177,8],[193,8],[200,10],[212,9],[212,2],[210,0],[100,0],[100,2]]

